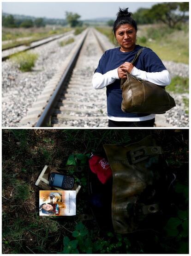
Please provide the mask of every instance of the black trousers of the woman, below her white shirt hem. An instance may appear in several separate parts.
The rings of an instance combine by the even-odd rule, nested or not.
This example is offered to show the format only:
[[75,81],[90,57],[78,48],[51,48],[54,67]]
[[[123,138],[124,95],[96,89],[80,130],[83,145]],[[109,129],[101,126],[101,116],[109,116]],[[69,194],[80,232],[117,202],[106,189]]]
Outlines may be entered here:
[[121,121],[113,121],[108,120],[108,127],[153,127],[155,124],[155,118],[146,120],[146,121],[138,121],[138,122],[121,122]]

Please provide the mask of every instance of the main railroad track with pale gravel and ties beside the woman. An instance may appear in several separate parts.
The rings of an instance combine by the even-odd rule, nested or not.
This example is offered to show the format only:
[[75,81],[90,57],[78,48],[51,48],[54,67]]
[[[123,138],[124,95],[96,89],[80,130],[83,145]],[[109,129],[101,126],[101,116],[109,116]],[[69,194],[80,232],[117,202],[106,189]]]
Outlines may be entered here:
[[111,45],[98,38],[94,29],[84,31],[66,67],[49,82],[21,120],[22,126],[107,127],[106,90],[93,89],[92,75]]

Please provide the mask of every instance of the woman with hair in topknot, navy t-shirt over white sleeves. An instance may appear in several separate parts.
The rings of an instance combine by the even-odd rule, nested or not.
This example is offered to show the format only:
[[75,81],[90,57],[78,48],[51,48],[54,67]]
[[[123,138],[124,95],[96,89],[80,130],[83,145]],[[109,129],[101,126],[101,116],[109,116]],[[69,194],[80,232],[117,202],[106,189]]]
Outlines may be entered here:
[[105,51],[93,75],[95,89],[107,87],[107,116],[109,127],[152,127],[155,114],[131,113],[121,110],[122,90],[120,80],[126,72],[159,86],[170,84],[169,72],[161,59],[149,48],[144,48],[136,65],[131,61],[143,48],[136,44],[137,23],[128,8],[121,9],[113,25],[113,33],[120,47]]

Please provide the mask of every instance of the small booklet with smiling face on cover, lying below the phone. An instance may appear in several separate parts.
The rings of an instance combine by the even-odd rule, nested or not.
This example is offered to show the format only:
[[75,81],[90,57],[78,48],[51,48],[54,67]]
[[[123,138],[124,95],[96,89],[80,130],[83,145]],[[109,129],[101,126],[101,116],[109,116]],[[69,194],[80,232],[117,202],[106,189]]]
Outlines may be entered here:
[[40,216],[72,216],[76,215],[75,190],[40,190]]

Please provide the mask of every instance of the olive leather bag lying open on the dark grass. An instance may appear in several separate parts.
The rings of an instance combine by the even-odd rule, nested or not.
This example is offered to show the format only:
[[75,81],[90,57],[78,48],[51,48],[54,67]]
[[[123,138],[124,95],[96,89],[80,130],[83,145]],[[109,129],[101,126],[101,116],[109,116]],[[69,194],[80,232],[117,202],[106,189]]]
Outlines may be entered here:
[[103,145],[113,172],[112,222],[117,233],[139,228],[146,216],[162,212],[167,170],[152,136],[127,146]]

